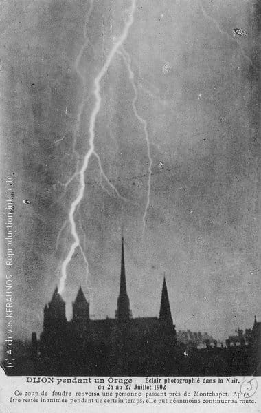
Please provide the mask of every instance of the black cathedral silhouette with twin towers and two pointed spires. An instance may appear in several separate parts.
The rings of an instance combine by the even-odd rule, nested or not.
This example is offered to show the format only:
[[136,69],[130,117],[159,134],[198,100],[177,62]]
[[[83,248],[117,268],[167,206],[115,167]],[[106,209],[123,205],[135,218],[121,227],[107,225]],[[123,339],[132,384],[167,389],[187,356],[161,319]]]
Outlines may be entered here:
[[159,317],[133,318],[126,288],[124,238],[120,294],[115,319],[89,317],[89,303],[82,288],[67,321],[65,301],[54,291],[44,308],[43,332],[32,334],[32,354],[41,374],[153,375],[184,374],[185,356],[177,346],[166,279],[163,279]]

